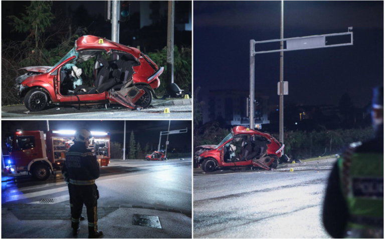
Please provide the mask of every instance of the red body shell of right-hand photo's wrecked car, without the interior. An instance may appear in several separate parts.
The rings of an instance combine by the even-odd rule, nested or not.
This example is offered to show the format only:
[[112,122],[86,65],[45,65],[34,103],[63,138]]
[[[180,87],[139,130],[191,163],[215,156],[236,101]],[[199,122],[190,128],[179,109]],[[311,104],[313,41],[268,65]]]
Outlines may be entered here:
[[[271,142],[268,144],[267,156],[261,160],[244,160],[244,161],[225,161],[224,148],[239,136],[262,136]],[[281,145],[270,134],[262,133],[257,130],[249,129],[244,126],[236,126],[231,133],[218,145],[202,145],[197,147],[198,150],[194,157],[194,166],[206,171],[214,171],[218,168],[242,168],[242,167],[261,167],[266,170],[277,167],[279,158],[282,156],[282,150],[285,145]],[[212,164],[210,166],[210,164]],[[206,167],[207,166],[207,167]]]

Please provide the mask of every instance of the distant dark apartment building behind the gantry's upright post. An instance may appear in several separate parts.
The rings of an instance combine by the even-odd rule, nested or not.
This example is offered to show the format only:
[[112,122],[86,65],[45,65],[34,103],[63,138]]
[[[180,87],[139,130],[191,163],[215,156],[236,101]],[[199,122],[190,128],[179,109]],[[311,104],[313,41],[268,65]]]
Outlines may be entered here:
[[[246,112],[248,91],[241,90],[213,90],[203,96],[205,104],[202,107],[203,123],[213,120],[224,120],[228,125],[242,125],[249,127],[249,117]],[[261,93],[255,94],[255,125],[268,124],[269,97]]]

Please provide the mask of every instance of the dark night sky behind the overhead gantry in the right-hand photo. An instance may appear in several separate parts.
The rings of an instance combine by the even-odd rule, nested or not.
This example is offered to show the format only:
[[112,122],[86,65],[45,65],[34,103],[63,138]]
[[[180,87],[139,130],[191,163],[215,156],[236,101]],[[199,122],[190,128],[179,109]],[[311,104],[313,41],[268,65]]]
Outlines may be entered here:
[[[201,86],[201,95],[249,90],[249,42],[279,39],[280,11],[281,1],[195,1],[194,88]],[[353,46],[284,53],[285,104],[337,105],[345,92],[357,107],[369,103],[372,87],[383,85],[383,2],[284,2],[284,38],[342,33],[348,27]],[[258,54],[255,64],[256,91],[278,103],[279,53]]]

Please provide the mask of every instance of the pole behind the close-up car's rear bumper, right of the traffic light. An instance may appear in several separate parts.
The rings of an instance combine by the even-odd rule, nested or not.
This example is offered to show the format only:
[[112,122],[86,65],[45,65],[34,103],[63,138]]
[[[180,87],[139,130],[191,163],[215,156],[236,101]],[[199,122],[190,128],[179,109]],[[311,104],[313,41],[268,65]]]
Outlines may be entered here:
[[174,83],[174,1],[168,1],[167,82]]

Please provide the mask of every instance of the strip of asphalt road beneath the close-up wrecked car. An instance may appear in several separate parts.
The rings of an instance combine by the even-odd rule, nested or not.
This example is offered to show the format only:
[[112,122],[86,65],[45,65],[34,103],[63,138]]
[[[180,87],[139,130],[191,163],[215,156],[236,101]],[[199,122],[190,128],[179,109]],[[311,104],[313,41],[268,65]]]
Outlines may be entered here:
[[[180,103],[181,100],[176,100]],[[153,99],[151,105],[140,111],[113,104],[98,106],[81,106],[80,110],[74,106],[50,106],[48,109],[30,112],[24,105],[2,107],[3,118],[23,119],[191,119],[191,105],[159,105],[163,100]],[[166,102],[164,100],[164,102]],[[169,102],[169,101],[167,101]],[[169,108],[170,113],[164,113]]]

